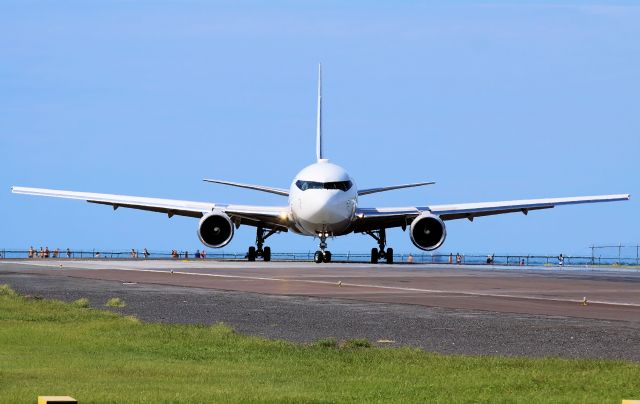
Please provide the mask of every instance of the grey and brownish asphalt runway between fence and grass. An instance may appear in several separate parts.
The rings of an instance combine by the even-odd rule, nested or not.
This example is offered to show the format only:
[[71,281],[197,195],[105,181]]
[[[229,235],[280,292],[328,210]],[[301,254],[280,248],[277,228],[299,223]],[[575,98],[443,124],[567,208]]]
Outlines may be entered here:
[[[312,342],[640,361],[640,271],[156,260],[0,261],[0,283],[147,321]],[[582,301],[586,297],[587,304]]]

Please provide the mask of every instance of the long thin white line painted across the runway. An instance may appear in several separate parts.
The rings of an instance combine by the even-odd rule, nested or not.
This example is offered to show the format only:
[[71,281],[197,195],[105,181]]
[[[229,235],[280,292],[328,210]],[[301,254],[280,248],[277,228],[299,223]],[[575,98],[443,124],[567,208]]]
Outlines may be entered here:
[[[35,266],[43,266],[49,267],[52,269],[58,268],[57,266],[52,266],[47,263],[23,263],[23,262],[12,262],[12,264],[20,264],[20,265],[35,265]],[[77,267],[65,267],[63,269],[66,270],[91,270],[87,268],[77,268]],[[310,284],[319,284],[319,285],[328,285],[328,286],[337,286],[336,281],[318,281],[311,279],[289,279],[289,278],[269,278],[263,276],[242,276],[242,275],[226,275],[226,274],[210,274],[210,273],[201,273],[201,272],[186,272],[186,271],[175,271],[175,270],[160,270],[160,269],[134,269],[134,268],[115,268],[115,267],[106,267],[106,268],[94,268],[95,269],[103,269],[103,270],[111,270],[111,271],[129,271],[129,272],[150,272],[150,273],[161,273],[161,274],[173,274],[173,275],[192,275],[192,276],[207,276],[211,278],[223,278],[223,279],[245,279],[245,280],[256,280],[256,281],[272,281],[272,282],[298,282],[298,283],[310,283]],[[342,287],[356,287],[356,288],[369,288],[369,289],[382,289],[382,290],[396,290],[402,292],[419,292],[419,293],[433,293],[433,294],[455,294],[455,295],[465,295],[465,296],[476,296],[476,297],[499,297],[499,298],[508,298],[508,299],[523,299],[523,300],[536,300],[536,301],[547,301],[547,302],[562,302],[562,303],[581,303],[581,299],[560,299],[560,298],[546,298],[546,297],[538,297],[538,296],[527,296],[527,295],[509,295],[509,294],[501,294],[501,293],[483,293],[483,292],[469,292],[469,291],[458,291],[458,290],[442,290],[442,289],[421,289],[421,288],[409,288],[409,287],[401,287],[401,286],[384,286],[384,285],[370,285],[370,284],[361,284],[361,283],[341,283]],[[625,307],[640,307],[640,304],[636,303],[623,303],[623,302],[610,302],[604,300],[589,300],[589,303],[592,304],[601,304],[608,306],[625,306]]]

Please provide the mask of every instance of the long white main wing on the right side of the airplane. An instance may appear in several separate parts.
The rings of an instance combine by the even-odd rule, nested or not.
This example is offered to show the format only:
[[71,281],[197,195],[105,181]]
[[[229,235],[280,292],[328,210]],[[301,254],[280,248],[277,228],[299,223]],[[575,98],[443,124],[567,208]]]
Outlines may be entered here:
[[431,212],[442,220],[469,219],[503,213],[524,213],[551,209],[560,205],[626,201],[629,194],[579,196],[570,198],[523,199],[501,202],[463,203],[451,205],[416,206],[404,208],[360,208],[355,231],[368,231],[389,227],[405,227],[423,212]]

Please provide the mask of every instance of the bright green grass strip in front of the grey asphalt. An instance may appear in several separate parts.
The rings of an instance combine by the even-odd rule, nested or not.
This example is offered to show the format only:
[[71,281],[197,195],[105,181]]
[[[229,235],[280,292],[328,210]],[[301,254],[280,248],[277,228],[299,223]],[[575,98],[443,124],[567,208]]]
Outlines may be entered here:
[[640,398],[638,364],[446,356],[363,344],[305,346],[238,335],[224,325],[143,323],[0,287],[0,402],[34,402],[45,394],[83,403]]

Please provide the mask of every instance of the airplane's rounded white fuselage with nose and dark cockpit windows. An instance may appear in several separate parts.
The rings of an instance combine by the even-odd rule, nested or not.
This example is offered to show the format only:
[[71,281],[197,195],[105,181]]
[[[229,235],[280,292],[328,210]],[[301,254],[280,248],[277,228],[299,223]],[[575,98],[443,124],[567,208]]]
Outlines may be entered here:
[[296,175],[289,190],[292,230],[309,236],[350,231],[358,204],[355,182],[340,166],[319,160]]

